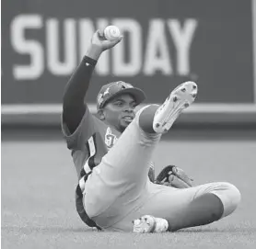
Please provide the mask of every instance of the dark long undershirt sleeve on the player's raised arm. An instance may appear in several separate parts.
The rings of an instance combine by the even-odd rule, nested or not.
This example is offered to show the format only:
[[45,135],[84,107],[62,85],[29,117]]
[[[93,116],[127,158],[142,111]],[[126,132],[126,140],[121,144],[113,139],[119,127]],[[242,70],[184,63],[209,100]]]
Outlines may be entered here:
[[72,134],[83,119],[87,109],[85,96],[97,61],[85,56],[64,88],[63,121]]

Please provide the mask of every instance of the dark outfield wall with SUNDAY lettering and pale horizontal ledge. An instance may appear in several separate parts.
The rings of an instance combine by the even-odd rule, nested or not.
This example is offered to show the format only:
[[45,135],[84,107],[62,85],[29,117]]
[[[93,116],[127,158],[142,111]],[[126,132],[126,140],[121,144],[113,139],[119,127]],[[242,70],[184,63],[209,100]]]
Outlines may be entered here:
[[4,1],[2,123],[58,124],[64,85],[91,34],[109,24],[124,39],[98,62],[87,94],[92,111],[107,82],[130,82],[146,102],[160,103],[192,80],[199,95],[180,122],[256,122],[255,2]]

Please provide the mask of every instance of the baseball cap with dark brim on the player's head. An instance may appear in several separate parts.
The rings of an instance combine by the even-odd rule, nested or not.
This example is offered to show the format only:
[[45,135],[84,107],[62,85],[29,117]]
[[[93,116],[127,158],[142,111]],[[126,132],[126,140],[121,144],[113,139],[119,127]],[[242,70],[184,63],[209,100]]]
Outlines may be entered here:
[[134,96],[137,105],[145,100],[145,93],[143,90],[136,88],[129,83],[117,81],[103,85],[100,88],[97,96],[97,108],[103,108],[106,102],[111,100],[111,98],[122,94],[130,94]]

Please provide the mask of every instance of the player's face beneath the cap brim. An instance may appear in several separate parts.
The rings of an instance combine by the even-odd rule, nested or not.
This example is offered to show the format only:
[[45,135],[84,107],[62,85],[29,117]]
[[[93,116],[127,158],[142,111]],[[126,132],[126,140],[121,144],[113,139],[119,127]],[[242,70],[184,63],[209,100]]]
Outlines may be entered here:
[[111,99],[104,110],[105,121],[121,132],[133,121],[135,117],[134,97],[124,94]]

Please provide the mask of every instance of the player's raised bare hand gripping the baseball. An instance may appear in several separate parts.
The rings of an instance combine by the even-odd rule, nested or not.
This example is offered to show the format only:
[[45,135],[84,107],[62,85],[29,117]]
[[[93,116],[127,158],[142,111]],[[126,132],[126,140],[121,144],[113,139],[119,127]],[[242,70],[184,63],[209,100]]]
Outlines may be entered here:
[[101,52],[110,50],[122,40],[122,36],[117,40],[104,40],[103,30],[97,30],[92,38],[88,47],[86,56],[98,61]]

